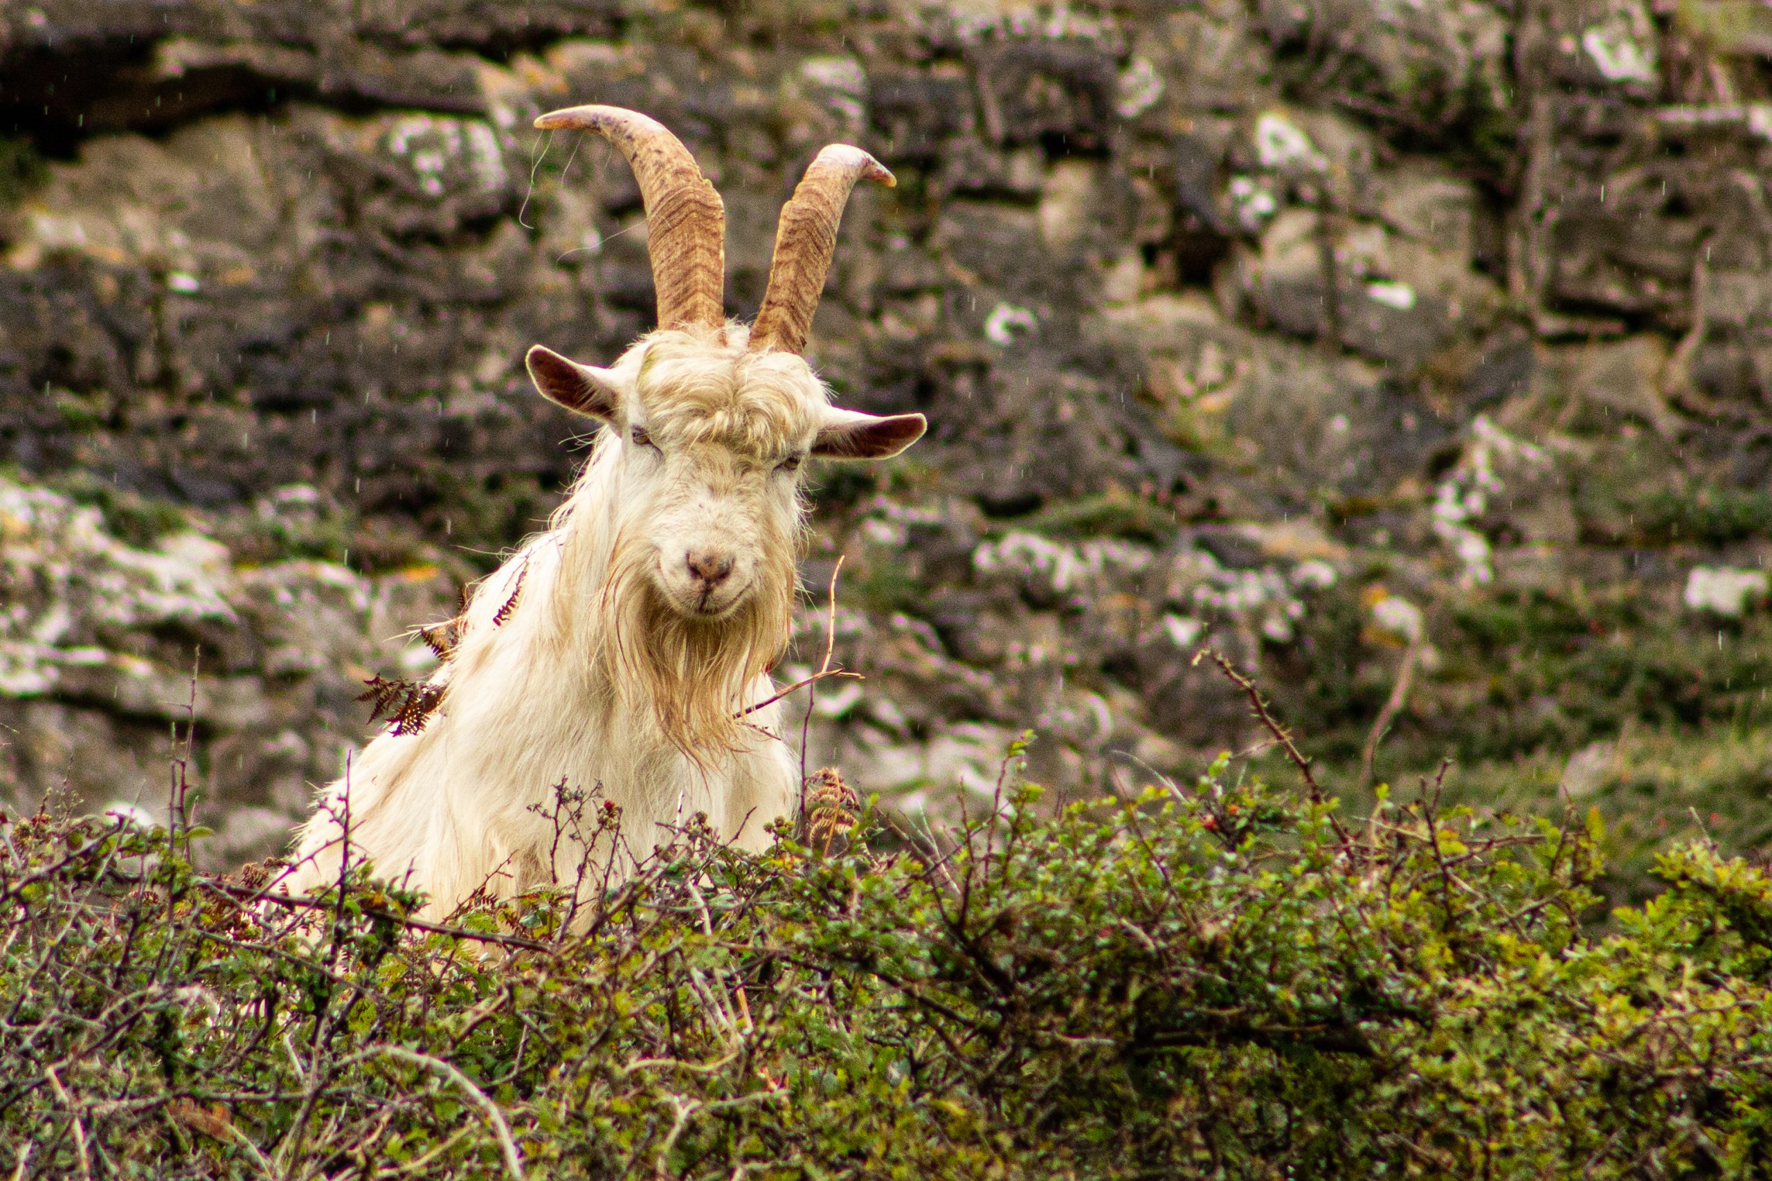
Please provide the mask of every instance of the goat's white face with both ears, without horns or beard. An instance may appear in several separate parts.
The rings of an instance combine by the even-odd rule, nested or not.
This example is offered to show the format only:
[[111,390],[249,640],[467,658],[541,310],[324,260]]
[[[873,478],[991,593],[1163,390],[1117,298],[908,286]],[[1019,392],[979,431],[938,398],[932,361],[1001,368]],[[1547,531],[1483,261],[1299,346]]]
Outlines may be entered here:
[[656,600],[686,621],[790,595],[808,457],[884,459],[923,434],[920,414],[831,407],[801,356],[744,343],[730,324],[657,331],[611,368],[542,347],[528,356],[542,395],[615,434],[613,524]]

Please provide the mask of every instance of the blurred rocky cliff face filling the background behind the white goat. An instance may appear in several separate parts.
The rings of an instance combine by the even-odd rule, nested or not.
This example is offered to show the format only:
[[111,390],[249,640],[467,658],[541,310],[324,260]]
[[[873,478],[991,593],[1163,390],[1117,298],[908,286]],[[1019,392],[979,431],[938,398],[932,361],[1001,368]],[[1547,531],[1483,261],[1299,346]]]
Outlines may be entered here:
[[914,809],[1022,728],[1060,799],[1272,761],[1210,645],[1341,795],[1449,756],[1597,807],[1621,891],[1772,845],[1763,0],[11,0],[12,807],[158,807],[195,712],[213,855],[273,850],[539,528],[585,439],[523,351],[652,315],[626,166],[530,127],[583,101],[693,147],[739,317],[822,143],[898,175],[813,354],[932,432],[819,473],[785,671],[842,554],[868,680],[813,765]]

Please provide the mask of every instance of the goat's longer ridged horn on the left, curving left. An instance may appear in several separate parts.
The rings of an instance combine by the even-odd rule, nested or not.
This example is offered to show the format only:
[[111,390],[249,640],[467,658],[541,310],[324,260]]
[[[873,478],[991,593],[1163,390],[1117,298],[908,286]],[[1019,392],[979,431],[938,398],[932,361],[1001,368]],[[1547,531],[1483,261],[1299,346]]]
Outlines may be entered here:
[[595,131],[640,181],[659,328],[727,322],[727,207],[695,156],[659,120],[622,106],[567,106],[535,120],[542,129]]

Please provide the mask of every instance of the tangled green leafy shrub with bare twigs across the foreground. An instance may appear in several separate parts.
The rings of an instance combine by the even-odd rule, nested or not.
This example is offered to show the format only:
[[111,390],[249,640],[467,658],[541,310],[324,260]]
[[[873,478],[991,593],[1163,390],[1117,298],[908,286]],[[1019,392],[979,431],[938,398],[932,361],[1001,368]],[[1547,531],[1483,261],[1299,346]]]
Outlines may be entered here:
[[[1014,784],[1014,781],[1012,781]],[[0,829],[14,1177],[1675,1177],[1772,1160],[1772,880],[1216,763],[913,838],[691,823],[572,914]],[[845,827],[858,827],[843,836]],[[305,926],[303,926],[305,921]]]

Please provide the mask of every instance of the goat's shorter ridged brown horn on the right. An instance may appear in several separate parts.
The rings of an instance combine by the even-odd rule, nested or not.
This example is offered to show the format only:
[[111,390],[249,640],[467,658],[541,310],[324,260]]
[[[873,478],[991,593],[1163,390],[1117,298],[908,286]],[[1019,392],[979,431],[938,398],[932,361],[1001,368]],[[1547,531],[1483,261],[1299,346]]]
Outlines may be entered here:
[[824,276],[836,250],[836,225],[856,181],[897,184],[886,165],[859,147],[831,143],[806,168],[776,223],[776,250],[769,262],[764,306],[751,326],[751,351],[799,352],[812,331],[812,313],[824,294]]

